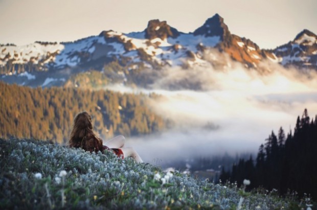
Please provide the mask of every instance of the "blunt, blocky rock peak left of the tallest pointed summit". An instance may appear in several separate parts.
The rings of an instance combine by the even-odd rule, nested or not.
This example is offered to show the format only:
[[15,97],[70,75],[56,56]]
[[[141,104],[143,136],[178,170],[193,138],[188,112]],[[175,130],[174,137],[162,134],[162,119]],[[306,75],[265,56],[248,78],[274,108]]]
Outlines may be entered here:
[[179,32],[175,28],[170,27],[166,21],[160,21],[159,19],[150,20],[144,31],[147,39],[161,38],[164,40],[168,37],[176,38],[179,36]]

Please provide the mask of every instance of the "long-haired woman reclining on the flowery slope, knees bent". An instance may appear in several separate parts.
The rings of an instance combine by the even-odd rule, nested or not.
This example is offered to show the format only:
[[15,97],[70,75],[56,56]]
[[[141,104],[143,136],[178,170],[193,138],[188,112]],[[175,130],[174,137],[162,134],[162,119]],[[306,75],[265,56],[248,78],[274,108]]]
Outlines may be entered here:
[[70,147],[82,148],[89,152],[104,152],[105,150],[115,153],[122,159],[132,157],[137,162],[143,162],[140,155],[131,147],[123,147],[125,138],[123,135],[110,139],[105,145],[93,131],[92,117],[86,112],[78,113],[74,118],[73,130],[69,141]]

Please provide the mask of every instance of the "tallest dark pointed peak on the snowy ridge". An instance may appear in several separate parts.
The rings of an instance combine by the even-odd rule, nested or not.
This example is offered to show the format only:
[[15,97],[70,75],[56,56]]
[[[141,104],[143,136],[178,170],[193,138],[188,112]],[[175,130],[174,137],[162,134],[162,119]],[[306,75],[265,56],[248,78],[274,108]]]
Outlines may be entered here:
[[194,31],[194,35],[205,36],[220,36],[224,40],[230,35],[228,26],[224,24],[223,18],[216,13],[214,16],[208,18],[201,27]]

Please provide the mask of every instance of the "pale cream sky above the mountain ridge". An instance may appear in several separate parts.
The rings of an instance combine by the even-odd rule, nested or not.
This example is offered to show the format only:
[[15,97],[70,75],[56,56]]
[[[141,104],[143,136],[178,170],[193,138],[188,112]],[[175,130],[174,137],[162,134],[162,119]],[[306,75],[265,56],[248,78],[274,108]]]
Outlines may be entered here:
[[316,0],[0,0],[0,43],[74,41],[103,30],[143,31],[150,19],[193,32],[218,13],[231,33],[272,49],[317,34]]

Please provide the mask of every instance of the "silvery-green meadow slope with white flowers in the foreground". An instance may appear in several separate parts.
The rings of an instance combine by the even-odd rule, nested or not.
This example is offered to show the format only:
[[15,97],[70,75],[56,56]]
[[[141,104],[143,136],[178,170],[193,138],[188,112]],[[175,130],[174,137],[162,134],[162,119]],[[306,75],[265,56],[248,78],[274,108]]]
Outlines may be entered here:
[[[111,152],[0,139],[0,153],[1,209],[235,209],[240,201],[236,185],[164,173]],[[288,207],[288,201],[263,194],[241,202],[242,209]]]

